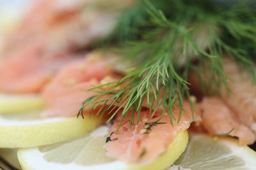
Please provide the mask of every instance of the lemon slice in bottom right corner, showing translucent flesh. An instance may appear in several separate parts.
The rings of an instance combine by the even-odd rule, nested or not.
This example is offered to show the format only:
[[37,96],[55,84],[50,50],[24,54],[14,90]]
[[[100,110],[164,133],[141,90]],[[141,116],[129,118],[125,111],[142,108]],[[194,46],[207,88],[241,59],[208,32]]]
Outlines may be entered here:
[[194,134],[186,151],[168,170],[256,169],[256,152],[239,146],[236,139]]

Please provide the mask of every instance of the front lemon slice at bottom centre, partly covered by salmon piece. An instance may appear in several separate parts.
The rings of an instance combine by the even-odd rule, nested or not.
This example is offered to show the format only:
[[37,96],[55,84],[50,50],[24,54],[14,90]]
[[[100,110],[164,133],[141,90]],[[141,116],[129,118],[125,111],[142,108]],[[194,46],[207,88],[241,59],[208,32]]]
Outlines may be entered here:
[[104,143],[109,128],[101,126],[92,133],[68,143],[39,148],[20,149],[18,159],[22,169],[72,169],[72,170],[138,170],[166,169],[184,152],[188,142],[188,132],[180,131],[165,153],[147,165],[127,164],[106,156]]

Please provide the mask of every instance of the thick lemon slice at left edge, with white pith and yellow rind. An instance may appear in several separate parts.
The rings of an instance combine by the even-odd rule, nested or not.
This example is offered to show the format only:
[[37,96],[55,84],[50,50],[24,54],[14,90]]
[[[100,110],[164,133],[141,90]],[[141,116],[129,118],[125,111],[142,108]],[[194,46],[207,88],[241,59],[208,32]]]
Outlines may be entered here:
[[0,148],[49,145],[76,138],[100,124],[97,117],[41,118],[40,113],[0,115]]

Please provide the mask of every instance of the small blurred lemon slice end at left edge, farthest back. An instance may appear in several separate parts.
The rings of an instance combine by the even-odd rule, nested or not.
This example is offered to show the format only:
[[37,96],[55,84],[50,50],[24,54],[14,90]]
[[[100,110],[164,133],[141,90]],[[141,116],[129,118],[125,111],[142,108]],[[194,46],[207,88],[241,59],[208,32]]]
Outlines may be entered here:
[[0,114],[39,110],[44,106],[40,96],[0,94]]

